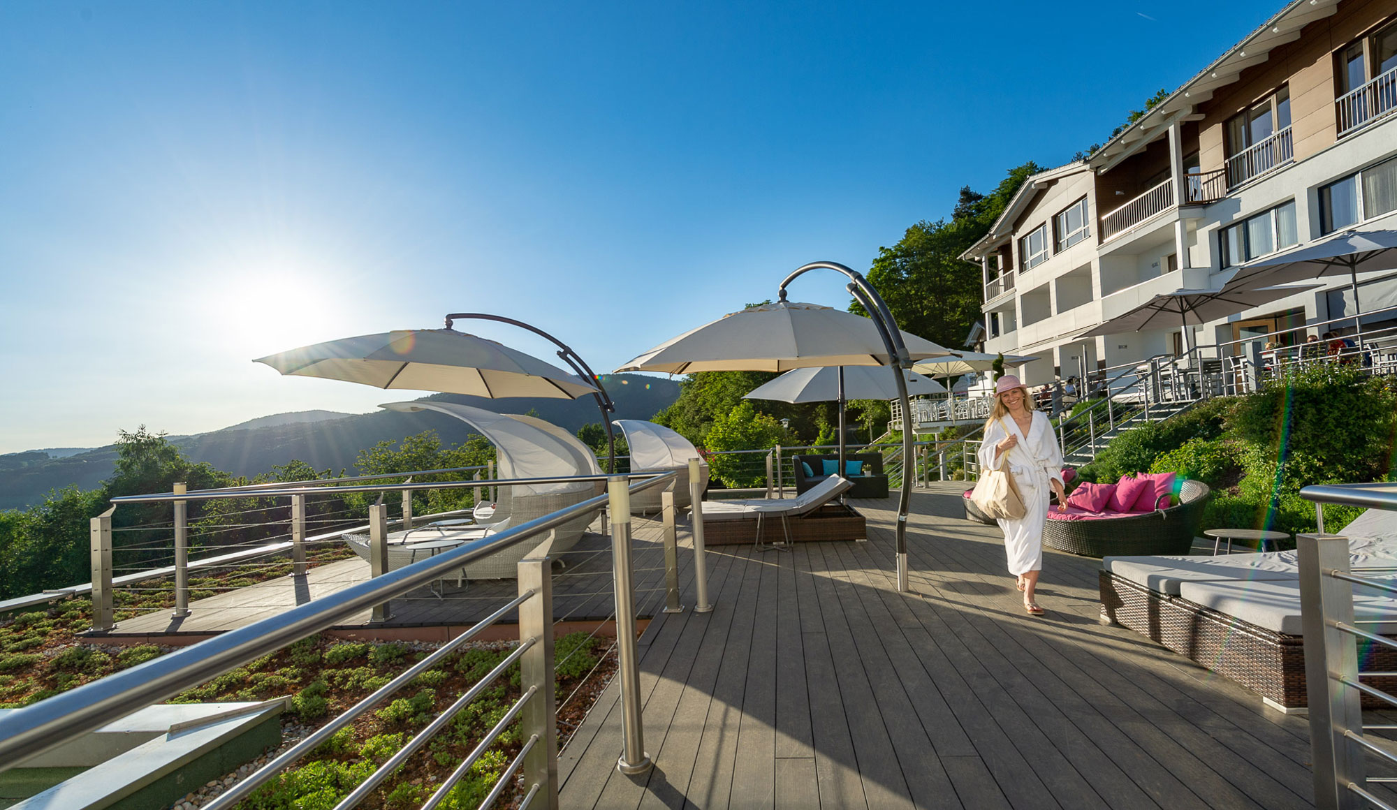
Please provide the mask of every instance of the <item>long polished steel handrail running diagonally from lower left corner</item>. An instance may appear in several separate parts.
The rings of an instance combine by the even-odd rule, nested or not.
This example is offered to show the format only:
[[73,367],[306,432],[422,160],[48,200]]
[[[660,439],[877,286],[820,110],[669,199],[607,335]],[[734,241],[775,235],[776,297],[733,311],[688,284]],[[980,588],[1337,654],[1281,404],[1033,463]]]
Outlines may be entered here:
[[[608,476],[587,476],[605,480]],[[643,492],[678,478],[678,472],[631,473],[631,492]],[[576,480],[576,479],[563,479]],[[440,485],[439,485],[440,486]],[[189,493],[194,494],[194,493]],[[133,496],[140,497],[140,496]],[[182,496],[183,497],[183,496]],[[165,500],[165,499],[156,499]],[[349,585],[277,616],[229,630],[142,665],[56,694],[0,716],[0,770],[21,757],[50,750],[133,711],[173,697],[215,675],[332,627],[337,621],[427,585],[462,566],[522,543],[542,532],[605,506],[606,494],[581,501],[538,520],[462,543],[395,571]]]

